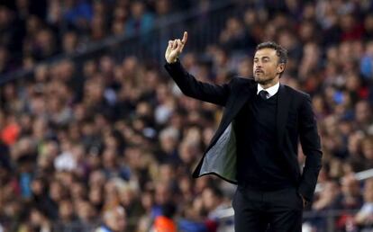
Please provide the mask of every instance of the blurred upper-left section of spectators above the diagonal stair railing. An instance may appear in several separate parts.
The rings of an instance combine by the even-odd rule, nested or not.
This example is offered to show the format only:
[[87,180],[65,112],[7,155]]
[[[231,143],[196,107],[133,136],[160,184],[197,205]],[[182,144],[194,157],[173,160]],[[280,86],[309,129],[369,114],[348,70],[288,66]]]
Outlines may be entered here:
[[150,31],[193,0],[0,0],[0,74],[85,49],[107,36]]

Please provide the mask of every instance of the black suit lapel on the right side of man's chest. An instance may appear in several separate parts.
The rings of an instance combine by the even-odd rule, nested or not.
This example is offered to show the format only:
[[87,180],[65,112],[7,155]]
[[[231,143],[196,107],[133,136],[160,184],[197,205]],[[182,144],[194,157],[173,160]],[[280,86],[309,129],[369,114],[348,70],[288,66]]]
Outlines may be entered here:
[[284,85],[280,85],[278,88],[277,117],[276,117],[277,142],[278,142],[279,147],[281,147],[282,138],[284,138],[290,101],[291,101],[290,94],[287,93],[286,87]]

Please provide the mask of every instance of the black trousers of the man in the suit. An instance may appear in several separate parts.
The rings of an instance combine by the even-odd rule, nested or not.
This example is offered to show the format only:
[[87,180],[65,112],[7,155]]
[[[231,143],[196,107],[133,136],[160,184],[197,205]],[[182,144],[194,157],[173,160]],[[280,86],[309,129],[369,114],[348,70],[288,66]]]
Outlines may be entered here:
[[241,187],[234,194],[235,232],[301,232],[303,200],[296,188],[263,192]]

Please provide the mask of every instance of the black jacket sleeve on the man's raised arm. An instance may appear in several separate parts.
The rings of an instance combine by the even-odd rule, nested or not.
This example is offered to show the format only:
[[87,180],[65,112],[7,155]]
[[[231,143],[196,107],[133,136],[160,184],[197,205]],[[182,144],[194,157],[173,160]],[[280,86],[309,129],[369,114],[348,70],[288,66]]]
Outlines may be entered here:
[[225,106],[230,93],[228,84],[213,85],[200,82],[195,76],[187,73],[179,60],[172,64],[167,63],[165,68],[183,94],[204,102]]

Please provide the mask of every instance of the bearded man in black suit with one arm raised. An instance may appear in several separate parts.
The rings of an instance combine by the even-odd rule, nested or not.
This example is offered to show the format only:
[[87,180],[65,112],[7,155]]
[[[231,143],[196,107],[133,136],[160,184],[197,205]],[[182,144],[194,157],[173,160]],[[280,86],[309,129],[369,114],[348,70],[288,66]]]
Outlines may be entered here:
[[[178,56],[187,42],[169,40],[168,73],[187,96],[224,106],[223,118],[193,174],[216,174],[237,183],[232,206],[235,231],[302,230],[302,211],[312,200],[322,151],[309,94],[279,83],[287,50],[275,42],[256,49],[254,78],[224,85],[196,80]],[[297,162],[298,139],[305,154]]]

